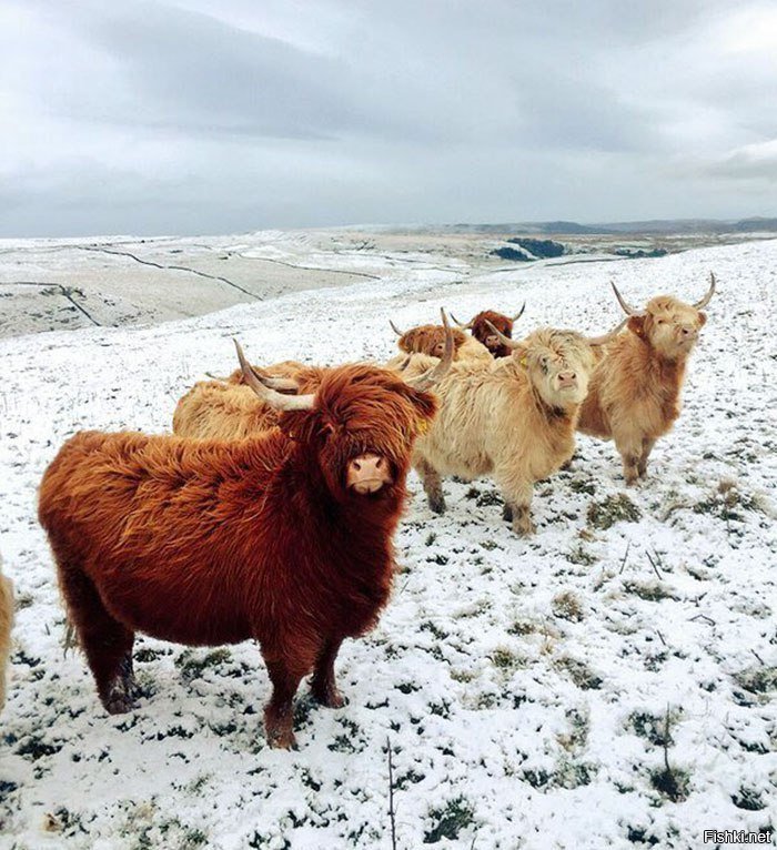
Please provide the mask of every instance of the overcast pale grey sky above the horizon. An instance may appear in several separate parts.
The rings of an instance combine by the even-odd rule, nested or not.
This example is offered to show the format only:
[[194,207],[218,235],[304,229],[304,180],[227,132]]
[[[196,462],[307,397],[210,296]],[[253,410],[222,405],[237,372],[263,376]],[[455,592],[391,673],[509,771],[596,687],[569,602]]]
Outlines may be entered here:
[[2,0],[0,235],[777,214],[777,0]]

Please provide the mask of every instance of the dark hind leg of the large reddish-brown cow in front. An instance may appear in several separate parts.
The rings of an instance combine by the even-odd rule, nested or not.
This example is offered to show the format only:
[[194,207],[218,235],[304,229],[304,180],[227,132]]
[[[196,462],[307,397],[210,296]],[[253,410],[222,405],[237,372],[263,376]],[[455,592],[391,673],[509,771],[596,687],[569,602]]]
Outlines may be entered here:
[[129,711],[137,695],[132,675],[134,633],[111,617],[80,568],[60,564],[59,578],[102,705],[111,715]]

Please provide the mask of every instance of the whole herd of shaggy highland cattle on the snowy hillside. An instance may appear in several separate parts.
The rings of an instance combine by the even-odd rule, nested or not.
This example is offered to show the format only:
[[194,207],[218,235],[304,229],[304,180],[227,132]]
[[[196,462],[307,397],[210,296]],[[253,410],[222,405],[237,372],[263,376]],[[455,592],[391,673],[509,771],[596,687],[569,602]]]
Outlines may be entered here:
[[[609,333],[541,327],[514,340],[486,311],[398,335],[385,365],[251,365],[196,383],[173,435],[81,432],[52,461],[39,517],[70,623],[111,714],[139,696],[135,633],[190,646],[258,641],[272,682],[268,741],[294,743],[293,699],[344,704],[334,661],[371,629],[395,570],[411,467],[435,513],[443,478],[491,476],[517,535],[535,482],[575,432],[612,438],[627,484],[679,413],[687,357],[715,292],[655,297]],[[522,311],[523,312],[523,311]],[[455,321],[455,320],[454,320]],[[471,335],[466,333],[471,332]],[[0,576],[0,705],[12,596]]]

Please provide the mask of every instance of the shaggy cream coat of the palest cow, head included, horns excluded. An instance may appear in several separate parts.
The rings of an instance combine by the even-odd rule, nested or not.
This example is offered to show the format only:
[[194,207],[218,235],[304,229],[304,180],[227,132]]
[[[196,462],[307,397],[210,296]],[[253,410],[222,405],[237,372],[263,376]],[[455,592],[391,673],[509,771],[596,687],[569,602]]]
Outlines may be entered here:
[[[407,371],[427,368],[425,361],[414,357]],[[553,328],[529,334],[509,357],[454,364],[435,387],[440,413],[414,453],[430,507],[445,509],[442,476],[490,475],[514,530],[529,534],[533,484],[572,456],[593,365],[586,337]]]

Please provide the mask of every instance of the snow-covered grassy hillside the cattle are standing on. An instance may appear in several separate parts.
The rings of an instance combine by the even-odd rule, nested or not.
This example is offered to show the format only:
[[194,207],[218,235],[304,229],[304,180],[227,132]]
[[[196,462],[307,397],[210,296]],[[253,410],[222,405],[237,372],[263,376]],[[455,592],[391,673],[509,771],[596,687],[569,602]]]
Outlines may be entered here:
[[[387,748],[402,850],[697,849],[705,829],[777,827],[777,241],[464,282],[406,265],[155,327],[0,342],[0,550],[19,606],[0,844],[392,848]],[[710,270],[685,409],[645,484],[626,490],[613,445],[581,437],[573,468],[536,486],[524,540],[491,482],[446,482],[437,517],[411,478],[393,598],[341,652],[349,705],[301,690],[299,751],[265,745],[251,644],[141,639],[145,696],[122,717],[63,651],[36,519],[46,465],[80,428],[169,429],[193,381],[231,371],[233,335],[255,363],[383,360],[389,316],[524,300],[525,331],[601,333],[620,318],[610,277],[633,302],[696,300]]]

